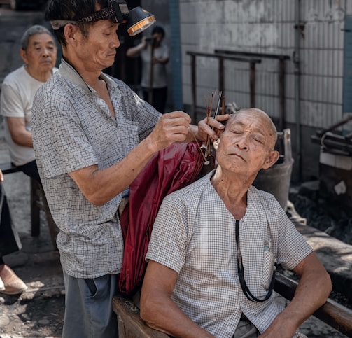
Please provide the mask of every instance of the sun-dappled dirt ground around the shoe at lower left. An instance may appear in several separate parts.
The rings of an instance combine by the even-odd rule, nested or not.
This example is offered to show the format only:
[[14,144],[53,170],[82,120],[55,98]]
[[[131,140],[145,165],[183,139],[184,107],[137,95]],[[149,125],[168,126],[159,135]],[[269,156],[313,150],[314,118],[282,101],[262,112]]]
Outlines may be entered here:
[[20,265],[23,253],[17,257],[17,265],[11,265],[28,290],[20,296],[0,294],[0,337],[62,337],[64,286],[59,255],[43,252],[28,256],[25,265]]

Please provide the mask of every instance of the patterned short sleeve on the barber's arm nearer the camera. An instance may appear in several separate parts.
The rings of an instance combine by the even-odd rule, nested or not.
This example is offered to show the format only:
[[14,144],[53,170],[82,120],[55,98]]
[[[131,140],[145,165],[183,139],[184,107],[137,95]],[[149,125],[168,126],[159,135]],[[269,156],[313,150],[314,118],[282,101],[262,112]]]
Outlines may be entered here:
[[[59,97],[57,97],[59,100]],[[36,157],[45,167],[46,178],[59,176],[97,164],[73,104],[59,108],[53,97],[39,90],[34,99],[32,132]]]

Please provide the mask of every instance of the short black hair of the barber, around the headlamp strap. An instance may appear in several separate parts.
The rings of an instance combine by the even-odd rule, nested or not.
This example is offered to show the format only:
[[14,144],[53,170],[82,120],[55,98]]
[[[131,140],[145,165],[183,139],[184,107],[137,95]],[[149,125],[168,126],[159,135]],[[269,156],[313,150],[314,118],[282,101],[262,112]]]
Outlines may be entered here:
[[[98,8],[108,7],[108,0],[50,0],[45,10],[45,20],[77,20],[94,13]],[[83,22],[78,28],[85,36],[85,27],[91,23]],[[66,45],[64,27],[54,31],[57,40]]]

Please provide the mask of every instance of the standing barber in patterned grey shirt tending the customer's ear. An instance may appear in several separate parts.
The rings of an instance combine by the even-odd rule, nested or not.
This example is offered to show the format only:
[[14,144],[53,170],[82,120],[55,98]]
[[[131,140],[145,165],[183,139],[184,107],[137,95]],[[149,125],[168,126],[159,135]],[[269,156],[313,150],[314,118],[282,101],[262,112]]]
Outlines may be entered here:
[[64,338],[117,336],[118,208],[129,184],[159,150],[207,134],[217,139],[211,127],[222,127],[216,120],[190,125],[182,111],[161,115],[102,72],[120,45],[116,4],[52,0],[45,13],[62,45],[62,63],[38,90],[31,122],[39,174],[60,230]]

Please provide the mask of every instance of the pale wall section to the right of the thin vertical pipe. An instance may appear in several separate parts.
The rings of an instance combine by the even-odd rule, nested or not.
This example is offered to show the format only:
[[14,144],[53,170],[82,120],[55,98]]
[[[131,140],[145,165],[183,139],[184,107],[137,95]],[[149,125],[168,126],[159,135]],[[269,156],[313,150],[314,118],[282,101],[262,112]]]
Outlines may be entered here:
[[342,119],[344,1],[301,5],[301,123],[328,127]]

